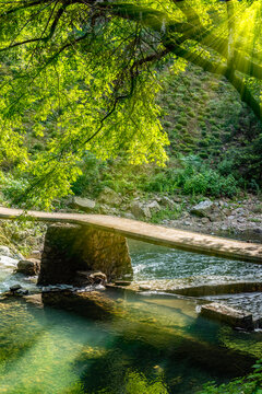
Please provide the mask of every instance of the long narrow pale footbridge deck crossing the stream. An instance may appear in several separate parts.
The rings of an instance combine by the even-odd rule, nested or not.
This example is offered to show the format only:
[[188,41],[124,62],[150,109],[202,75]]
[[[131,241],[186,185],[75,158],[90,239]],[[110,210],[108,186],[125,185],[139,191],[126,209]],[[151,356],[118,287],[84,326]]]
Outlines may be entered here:
[[[25,212],[21,209],[0,207],[0,219],[17,219]],[[94,227],[116,232],[130,239],[190,252],[212,254],[262,264],[262,244],[228,240],[219,236],[148,224],[138,220],[106,215],[26,211],[39,221],[67,222]],[[29,219],[29,218],[28,218]]]

